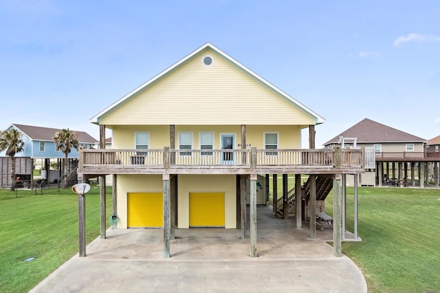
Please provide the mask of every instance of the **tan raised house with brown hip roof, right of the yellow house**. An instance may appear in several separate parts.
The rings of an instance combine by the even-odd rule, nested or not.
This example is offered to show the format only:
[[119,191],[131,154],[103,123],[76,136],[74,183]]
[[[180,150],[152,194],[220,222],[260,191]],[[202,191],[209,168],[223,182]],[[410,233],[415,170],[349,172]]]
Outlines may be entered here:
[[[382,184],[408,185],[408,167],[411,168],[411,184],[415,185],[415,168],[431,162],[425,153],[426,140],[418,136],[388,127],[365,118],[346,131],[325,142],[326,148],[341,145],[342,148],[365,147],[375,151],[376,166],[360,175],[360,184],[382,186]],[[423,168],[417,168],[418,179],[423,187],[426,178]],[[421,179],[421,177],[423,179]],[[399,180],[401,182],[399,182]]]

